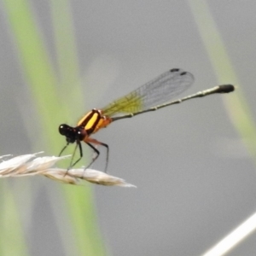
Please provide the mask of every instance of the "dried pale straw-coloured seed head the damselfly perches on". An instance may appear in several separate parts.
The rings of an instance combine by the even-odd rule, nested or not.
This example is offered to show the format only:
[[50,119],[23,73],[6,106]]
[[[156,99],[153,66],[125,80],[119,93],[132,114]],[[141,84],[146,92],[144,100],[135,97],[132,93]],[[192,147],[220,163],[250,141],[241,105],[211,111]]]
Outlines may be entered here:
[[59,160],[69,157],[66,156],[44,156],[36,157],[37,154],[24,154],[16,156],[9,160],[3,160],[6,156],[0,156],[0,177],[25,177],[32,175],[44,175],[68,184],[81,184],[83,180],[90,183],[101,184],[105,186],[120,186],[120,187],[136,187],[130,183],[125,183],[125,180],[119,177],[108,175],[105,172],[96,171],[93,169],[61,169],[53,168],[52,166]]

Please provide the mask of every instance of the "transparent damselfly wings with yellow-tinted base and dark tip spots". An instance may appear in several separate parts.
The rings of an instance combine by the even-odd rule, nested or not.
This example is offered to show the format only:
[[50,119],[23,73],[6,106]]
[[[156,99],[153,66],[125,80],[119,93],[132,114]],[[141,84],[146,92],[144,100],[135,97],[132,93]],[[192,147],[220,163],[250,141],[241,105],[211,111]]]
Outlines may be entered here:
[[194,76],[179,68],[162,73],[157,78],[143,84],[137,90],[102,108],[105,115],[136,113],[169,102],[173,97],[187,90],[194,82]]

